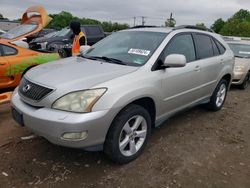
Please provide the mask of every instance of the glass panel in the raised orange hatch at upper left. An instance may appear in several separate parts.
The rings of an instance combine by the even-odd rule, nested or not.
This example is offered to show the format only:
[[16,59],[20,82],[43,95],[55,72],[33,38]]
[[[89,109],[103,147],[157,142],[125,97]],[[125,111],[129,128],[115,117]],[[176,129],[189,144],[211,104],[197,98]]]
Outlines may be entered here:
[[15,39],[34,31],[36,28],[37,28],[36,24],[22,24],[9,30],[7,33],[2,34],[1,37],[9,40]]

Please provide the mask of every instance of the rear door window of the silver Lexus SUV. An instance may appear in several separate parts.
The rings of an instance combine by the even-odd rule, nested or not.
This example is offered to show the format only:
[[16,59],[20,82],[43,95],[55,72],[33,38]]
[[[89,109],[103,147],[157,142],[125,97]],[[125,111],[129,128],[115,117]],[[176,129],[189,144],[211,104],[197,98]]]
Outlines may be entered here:
[[214,55],[212,42],[209,36],[195,34],[195,44],[198,59],[204,59]]

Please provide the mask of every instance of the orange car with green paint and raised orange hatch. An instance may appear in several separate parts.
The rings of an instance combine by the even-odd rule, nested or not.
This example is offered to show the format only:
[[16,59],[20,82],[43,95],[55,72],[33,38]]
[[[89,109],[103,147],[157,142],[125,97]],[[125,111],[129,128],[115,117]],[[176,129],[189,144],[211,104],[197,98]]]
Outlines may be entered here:
[[30,7],[21,25],[0,36],[0,89],[16,87],[30,68],[59,59],[57,53],[43,53],[18,45],[18,40],[39,32],[51,18],[41,6]]

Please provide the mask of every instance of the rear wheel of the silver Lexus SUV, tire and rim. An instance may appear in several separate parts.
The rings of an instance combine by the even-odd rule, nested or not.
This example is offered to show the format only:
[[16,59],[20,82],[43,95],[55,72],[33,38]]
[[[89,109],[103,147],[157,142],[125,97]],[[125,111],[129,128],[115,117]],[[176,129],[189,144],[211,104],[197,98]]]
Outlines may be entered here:
[[207,104],[207,107],[211,111],[218,111],[222,108],[228,90],[228,81],[222,79],[219,84],[216,86],[212,97],[210,98],[210,102]]

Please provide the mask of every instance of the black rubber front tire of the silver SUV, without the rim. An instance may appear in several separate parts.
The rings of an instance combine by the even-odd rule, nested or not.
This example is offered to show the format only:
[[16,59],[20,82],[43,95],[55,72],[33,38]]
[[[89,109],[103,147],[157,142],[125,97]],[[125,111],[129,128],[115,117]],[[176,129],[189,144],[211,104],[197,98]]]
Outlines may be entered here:
[[[141,115],[145,118],[147,122],[147,136],[141,148],[134,155],[124,156],[119,148],[120,133],[125,123],[130,118],[136,115]],[[129,105],[128,107],[124,108],[114,119],[104,143],[104,153],[108,156],[108,158],[110,158],[116,163],[119,164],[128,163],[136,159],[142,153],[147,144],[150,133],[151,133],[151,118],[148,111],[139,105],[134,105],[134,104]]]

